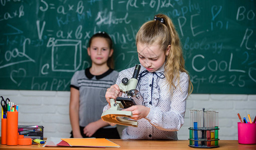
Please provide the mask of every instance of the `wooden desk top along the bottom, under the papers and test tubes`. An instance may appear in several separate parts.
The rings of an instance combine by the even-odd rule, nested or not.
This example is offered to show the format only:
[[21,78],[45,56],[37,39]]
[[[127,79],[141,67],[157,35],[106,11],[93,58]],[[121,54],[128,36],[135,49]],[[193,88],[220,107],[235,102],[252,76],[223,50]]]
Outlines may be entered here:
[[[0,145],[0,149],[17,149],[17,150],[31,150],[31,149],[114,149],[114,150],[127,150],[127,149],[201,149],[189,147],[188,140],[122,140],[110,139],[111,141],[120,145],[120,147],[107,147],[107,148],[89,148],[89,147],[42,147],[41,145],[17,145],[8,146]],[[214,149],[256,149],[256,144],[239,144],[237,140],[219,140],[219,147]]]

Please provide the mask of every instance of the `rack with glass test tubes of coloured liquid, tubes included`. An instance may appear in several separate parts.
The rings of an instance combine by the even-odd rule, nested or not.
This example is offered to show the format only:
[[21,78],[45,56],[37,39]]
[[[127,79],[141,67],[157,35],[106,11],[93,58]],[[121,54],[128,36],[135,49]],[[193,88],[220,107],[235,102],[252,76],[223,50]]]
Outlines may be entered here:
[[214,148],[218,145],[218,112],[190,110],[189,146]]

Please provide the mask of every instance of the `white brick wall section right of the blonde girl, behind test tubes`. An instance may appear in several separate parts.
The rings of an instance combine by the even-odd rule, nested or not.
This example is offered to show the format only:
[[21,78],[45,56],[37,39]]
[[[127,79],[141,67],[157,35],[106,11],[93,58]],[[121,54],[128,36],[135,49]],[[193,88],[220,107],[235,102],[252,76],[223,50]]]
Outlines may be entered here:
[[[178,131],[179,139],[188,139],[189,110],[202,109],[219,112],[219,139],[237,140],[237,113],[241,117],[256,115],[256,95],[245,94],[191,94],[187,99],[185,123]],[[246,117],[248,118],[248,117]]]

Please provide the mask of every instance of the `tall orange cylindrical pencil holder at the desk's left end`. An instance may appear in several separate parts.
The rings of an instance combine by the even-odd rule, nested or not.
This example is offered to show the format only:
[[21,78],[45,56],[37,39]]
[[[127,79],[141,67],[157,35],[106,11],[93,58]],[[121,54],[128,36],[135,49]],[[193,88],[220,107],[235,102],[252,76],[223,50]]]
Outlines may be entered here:
[[7,145],[18,145],[18,111],[7,111]]

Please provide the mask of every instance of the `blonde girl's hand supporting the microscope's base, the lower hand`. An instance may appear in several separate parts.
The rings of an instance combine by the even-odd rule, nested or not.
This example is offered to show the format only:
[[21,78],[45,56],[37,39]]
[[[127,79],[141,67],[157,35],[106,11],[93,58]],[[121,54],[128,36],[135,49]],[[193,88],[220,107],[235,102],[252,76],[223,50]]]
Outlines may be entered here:
[[124,111],[132,111],[132,119],[138,120],[148,115],[150,108],[144,105],[133,105],[129,108],[122,109]]

